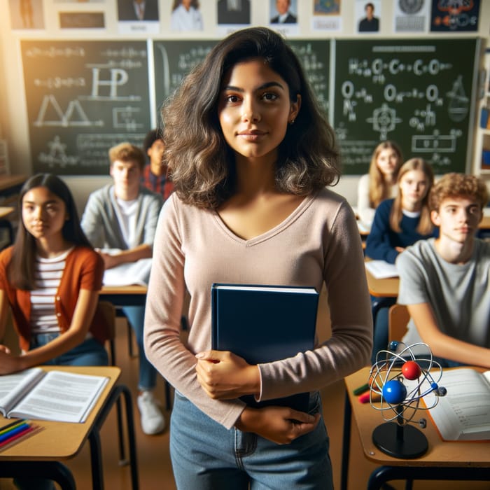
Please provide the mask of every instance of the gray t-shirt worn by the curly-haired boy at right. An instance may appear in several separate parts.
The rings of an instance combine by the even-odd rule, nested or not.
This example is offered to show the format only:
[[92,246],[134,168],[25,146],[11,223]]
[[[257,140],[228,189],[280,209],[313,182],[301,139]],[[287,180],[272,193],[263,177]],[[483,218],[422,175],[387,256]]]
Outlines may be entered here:
[[[442,259],[435,239],[417,241],[398,255],[398,303],[429,303],[441,332],[490,348],[490,243],[475,239],[463,265]],[[413,321],[403,341],[421,342]]]

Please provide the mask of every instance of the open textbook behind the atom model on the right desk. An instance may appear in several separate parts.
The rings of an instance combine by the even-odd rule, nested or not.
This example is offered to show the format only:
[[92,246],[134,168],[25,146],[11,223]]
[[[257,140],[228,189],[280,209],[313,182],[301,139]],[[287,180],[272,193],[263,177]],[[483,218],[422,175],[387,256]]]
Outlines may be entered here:
[[[439,384],[447,394],[428,412],[442,439],[490,440],[490,371],[444,370]],[[430,407],[431,400],[424,402]]]

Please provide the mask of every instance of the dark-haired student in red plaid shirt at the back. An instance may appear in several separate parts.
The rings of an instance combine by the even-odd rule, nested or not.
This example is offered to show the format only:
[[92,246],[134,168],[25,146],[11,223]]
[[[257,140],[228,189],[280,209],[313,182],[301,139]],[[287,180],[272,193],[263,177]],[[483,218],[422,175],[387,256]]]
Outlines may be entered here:
[[161,194],[166,201],[174,190],[174,184],[169,178],[167,166],[162,163],[165,143],[159,130],[151,130],[146,134],[143,149],[150,161],[143,169],[141,183],[154,193]]

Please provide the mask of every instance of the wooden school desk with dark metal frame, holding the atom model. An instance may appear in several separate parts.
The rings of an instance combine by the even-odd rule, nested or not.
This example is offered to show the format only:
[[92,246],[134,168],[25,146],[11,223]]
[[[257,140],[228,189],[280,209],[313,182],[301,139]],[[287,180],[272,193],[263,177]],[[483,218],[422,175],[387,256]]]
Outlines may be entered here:
[[[428,440],[428,451],[416,459],[400,459],[388,456],[372,442],[372,431],[384,423],[381,413],[369,403],[360,403],[353,390],[367,382],[370,367],[345,378],[346,401],[344,413],[344,436],[342,442],[341,490],[347,489],[349,475],[349,448],[351,442],[351,416],[353,426],[358,430],[364,456],[379,468],[371,473],[367,490],[381,489],[393,479],[440,479],[440,480],[482,480],[490,481],[490,442],[443,441],[425,410],[419,411],[414,419],[424,418],[427,426],[422,430]],[[442,381],[441,381],[442,382]]]

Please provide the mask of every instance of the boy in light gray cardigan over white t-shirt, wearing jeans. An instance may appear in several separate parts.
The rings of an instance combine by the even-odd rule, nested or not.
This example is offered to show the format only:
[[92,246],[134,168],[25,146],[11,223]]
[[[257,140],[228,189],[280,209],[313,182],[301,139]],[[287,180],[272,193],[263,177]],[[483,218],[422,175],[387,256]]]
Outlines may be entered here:
[[[109,150],[113,183],[90,194],[82,216],[82,228],[93,246],[117,249],[100,251],[106,269],[152,256],[153,239],[162,197],[141,186],[145,155],[137,146],[121,143]],[[143,348],[144,307],[123,307],[139,348],[139,396],[141,428],[156,434],[165,428],[165,419],[153,398],[156,370]]]

